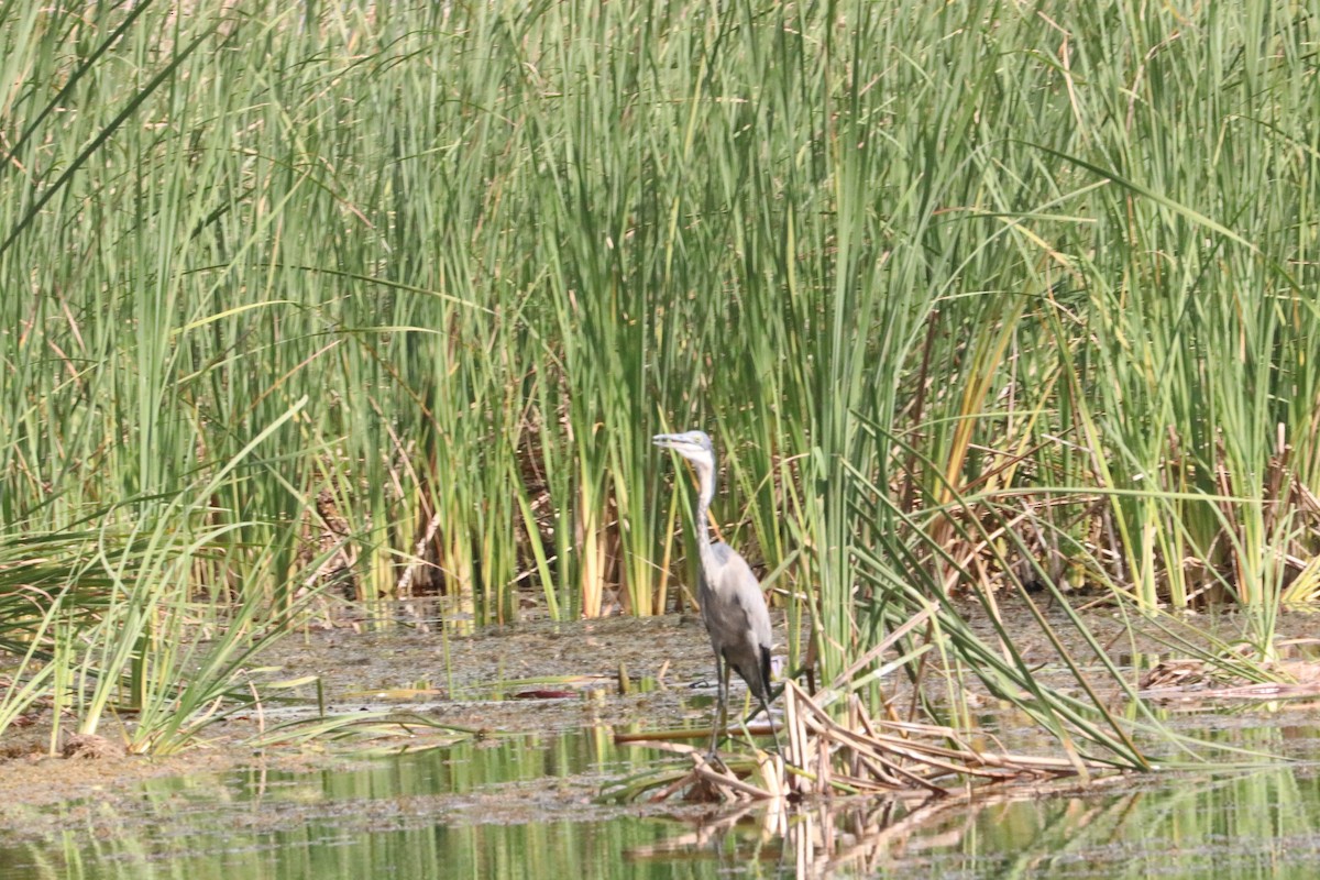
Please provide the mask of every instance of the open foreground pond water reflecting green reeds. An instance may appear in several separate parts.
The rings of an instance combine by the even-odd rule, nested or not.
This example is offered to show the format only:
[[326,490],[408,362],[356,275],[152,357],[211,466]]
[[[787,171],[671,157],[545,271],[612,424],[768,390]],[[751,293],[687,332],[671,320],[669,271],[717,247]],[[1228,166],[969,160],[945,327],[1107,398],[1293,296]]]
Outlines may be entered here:
[[[1243,720],[1243,719],[1234,719]],[[1290,732],[1291,739],[1290,739]],[[1250,748],[1313,751],[1305,731],[1226,724]],[[1291,745],[1290,745],[1291,743]],[[0,880],[29,877],[1213,877],[1320,871],[1309,763],[1148,774],[974,803],[836,801],[615,806],[602,784],[672,760],[609,728],[517,735],[309,772],[144,782],[115,801],[42,807],[0,833]]]

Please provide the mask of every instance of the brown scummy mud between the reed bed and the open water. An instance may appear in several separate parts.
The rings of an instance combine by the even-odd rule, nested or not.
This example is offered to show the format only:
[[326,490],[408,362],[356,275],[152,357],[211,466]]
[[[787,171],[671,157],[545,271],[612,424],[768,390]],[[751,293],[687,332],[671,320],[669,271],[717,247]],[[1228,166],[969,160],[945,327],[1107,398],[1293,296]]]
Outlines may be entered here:
[[[1008,612],[1022,615],[1022,610]],[[973,620],[977,613],[968,610]],[[1065,628],[1060,610],[1047,608],[1047,613]],[[781,616],[775,616],[783,627]],[[1286,616],[1282,637],[1308,635],[1313,620],[1313,615]],[[1031,631],[1024,617],[1022,624],[1022,632]],[[1122,620],[1107,611],[1089,613],[1088,624],[1119,662],[1130,662],[1134,654],[1167,653],[1154,635],[1130,639]],[[1218,637],[1226,641],[1243,628],[1245,620],[1236,615],[1222,615],[1214,623]],[[989,637],[987,624],[985,629]],[[776,643],[783,652],[781,629]],[[1027,637],[1020,644],[1028,662],[1052,662],[1053,650],[1044,637]],[[677,615],[529,620],[469,635],[359,620],[290,635],[257,662],[260,668],[252,670],[257,682],[319,677],[329,714],[409,710],[479,738],[585,727],[701,727],[709,723],[709,701],[701,695],[713,686],[705,631],[700,620]],[[1043,668],[1040,674],[1057,673]],[[298,769],[351,756],[354,744],[325,741],[253,749],[249,743],[257,734],[318,711],[313,686],[304,686],[296,697],[293,706],[272,702],[261,712],[214,724],[202,732],[197,748],[165,759],[114,753],[95,760],[51,757],[46,755],[49,719],[34,719],[0,743],[0,819],[12,826],[18,813],[36,805],[88,796],[114,798],[149,777],[256,763]],[[114,741],[114,719],[103,732]],[[407,740],[400,738],[399,744],[407,745]]]

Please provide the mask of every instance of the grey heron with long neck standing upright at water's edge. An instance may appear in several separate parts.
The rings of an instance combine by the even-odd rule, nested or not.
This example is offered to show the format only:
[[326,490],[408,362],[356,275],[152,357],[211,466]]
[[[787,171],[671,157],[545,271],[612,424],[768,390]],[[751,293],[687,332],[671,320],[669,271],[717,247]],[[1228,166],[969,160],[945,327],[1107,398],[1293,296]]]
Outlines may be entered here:
[[701,619],[710,635],[710,646],[715,652],[715,677],[718,681],[717,723],[710,731],[710,755],[715,755],[719,731],[729,724],[729,668],[733,666],[752,695],[760,701],[760,707],[775,735],[775,749],[779,749],[779,732],[775,719],[770,715],[770,610],[760,591],[756,575],[751,573],[747,561],[723,541],[711,541],[708,522],[710,500],[715,496],[715,450],[705,431],[684,434],[656,434],[652,442],[669,449],[692,462],[697,471],[697,508],[693,525],[697,529],[697,549],[701,554],[701,578],[697,600],[701,603]]

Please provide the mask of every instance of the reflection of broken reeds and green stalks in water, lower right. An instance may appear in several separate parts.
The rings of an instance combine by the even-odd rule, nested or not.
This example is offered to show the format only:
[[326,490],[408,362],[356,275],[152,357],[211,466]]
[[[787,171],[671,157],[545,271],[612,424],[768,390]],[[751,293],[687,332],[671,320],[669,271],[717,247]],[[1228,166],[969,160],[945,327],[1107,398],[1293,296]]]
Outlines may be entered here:
[[[1245,739],[1278,734],[1258,728]],[[1300,880],[1315,872],[1317,819],[1320,780],[1291,767],[1180,776],[1154,786],[1130,776],[1088,785],[1060,778],[949,797],[743,801],[701,815],[685,834],[630,850],[628,858],[690,858],[697,847],[737,851],[743,862],[777,855],[780,872],[792,868],[797,877]]]

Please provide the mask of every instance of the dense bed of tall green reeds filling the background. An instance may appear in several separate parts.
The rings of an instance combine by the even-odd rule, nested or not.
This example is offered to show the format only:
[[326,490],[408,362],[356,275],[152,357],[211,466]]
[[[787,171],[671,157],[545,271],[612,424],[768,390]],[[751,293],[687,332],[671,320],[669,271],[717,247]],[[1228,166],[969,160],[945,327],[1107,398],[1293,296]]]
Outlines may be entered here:
[[[209,705],[331,569],[672,608],[696,426],[825,679],[933,603],[1030,689],[956,591],[1247,603],[1267,656],[1320,588],[1320,4],[0,22],[0,730]],[[186,699],[181,621],[242,633]]]

